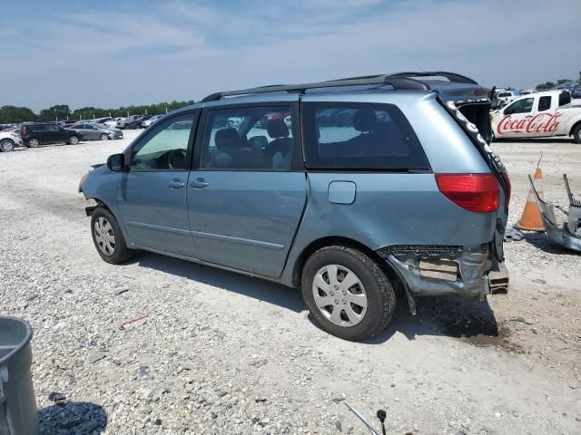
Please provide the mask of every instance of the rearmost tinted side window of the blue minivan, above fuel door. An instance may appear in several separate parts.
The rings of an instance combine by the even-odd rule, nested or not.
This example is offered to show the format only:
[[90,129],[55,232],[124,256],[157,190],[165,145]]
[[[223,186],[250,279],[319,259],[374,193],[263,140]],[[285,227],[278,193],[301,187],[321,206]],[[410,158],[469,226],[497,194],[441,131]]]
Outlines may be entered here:
[[409,121],[393,104],[307,102],[303,114],[309,169],[429,170]]

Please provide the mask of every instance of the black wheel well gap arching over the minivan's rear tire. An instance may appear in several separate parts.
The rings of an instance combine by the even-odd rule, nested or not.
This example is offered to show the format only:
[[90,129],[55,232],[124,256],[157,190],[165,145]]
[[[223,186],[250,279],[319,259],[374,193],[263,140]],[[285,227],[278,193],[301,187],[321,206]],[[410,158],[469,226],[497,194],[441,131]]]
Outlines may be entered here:
[[[399,293],[400,289],[403,289],[403,285],[399,279],[399,275],[393,270],[393,268],[383,260],[377,252],[369,247],[366,247],[362,243],[358,242],[357,240],[353,240],[349,237],[339,237],[339,236],[331,236],[331,237],[322,237],[314,242],[310,243],[308,247],[305,247],[300,256],[297,258],[297,261],[294,264],[294,269],[292,271],[292,284],[300,288],[300,281],[302,278],[302,269],[305,266],[305,263],[312,256],[315,252],[317,252],[322,247],[332,247],[332,246],[341,246],[341,247],[353,247],[358,249],[365,255],[369,256],[378,266],[381,268],[383,273],[388,276],[389,282],[393,286],[394,290]],[[399,295],[398,295],[399,296]]]

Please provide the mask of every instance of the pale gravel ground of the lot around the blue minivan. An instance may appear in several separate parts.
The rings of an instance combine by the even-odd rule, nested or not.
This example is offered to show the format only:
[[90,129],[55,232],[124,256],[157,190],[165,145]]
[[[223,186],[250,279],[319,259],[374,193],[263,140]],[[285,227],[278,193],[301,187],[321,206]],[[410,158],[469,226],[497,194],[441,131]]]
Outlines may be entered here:
[[[77,184],[134,134],[0,154],[0,314],[34,327],[42,433],[364,433],[345,403],[374,424],[385,409],[390,434],[581,433],[580,255],[528,233],[506,246],[507,296],[422,298],[344,342],[281,285],[147,253],[104,263]],[[511,222],[539,150],[546,198],[566,205],[562,172],[581,194],[581,146],[494,148]]]

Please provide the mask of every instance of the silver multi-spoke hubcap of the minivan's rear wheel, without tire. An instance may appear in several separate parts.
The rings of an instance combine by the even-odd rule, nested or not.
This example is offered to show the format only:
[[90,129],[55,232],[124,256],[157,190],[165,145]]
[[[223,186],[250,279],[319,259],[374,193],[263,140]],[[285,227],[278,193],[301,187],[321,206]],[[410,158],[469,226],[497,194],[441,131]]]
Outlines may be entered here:
[[312,295],[320,313],[333,324],[355,326],[367,312],[365,287],[345,266],[321,267],[312,281]]

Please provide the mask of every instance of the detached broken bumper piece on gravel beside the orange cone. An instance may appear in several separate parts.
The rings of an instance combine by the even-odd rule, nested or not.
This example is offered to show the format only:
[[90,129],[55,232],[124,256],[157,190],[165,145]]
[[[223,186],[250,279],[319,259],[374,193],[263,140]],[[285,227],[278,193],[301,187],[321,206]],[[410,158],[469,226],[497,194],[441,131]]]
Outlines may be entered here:
[[581,206],[577,205],[578,200],[573,198],[566,175],[564,175],[564,179],[567,196],[569,197],[569,212],[567,222],[559,229],[555,218],[555,206],[539,197],[533,179],[531,179],[530,175],[528,176],[531,189],[535,192],[535,197],[537,198],[538,210],[547,236],[559,247],[581,252]]

